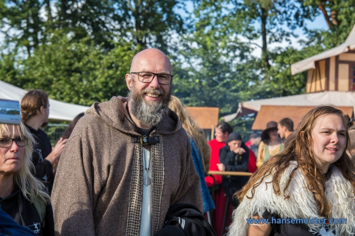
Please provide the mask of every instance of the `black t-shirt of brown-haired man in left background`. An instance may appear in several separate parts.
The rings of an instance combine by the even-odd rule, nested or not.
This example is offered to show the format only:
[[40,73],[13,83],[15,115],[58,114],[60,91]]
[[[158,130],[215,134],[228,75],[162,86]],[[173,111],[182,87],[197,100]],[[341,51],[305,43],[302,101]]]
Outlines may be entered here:
[[45,158],[51,153],[52,145],[49,142],[47,134],[41,130],[35,130],[34,128],[26,125],[31,134],[35,137],[36,145],[34,146],[32,154],[32,162],[35,165],[35,176],[44,182],[46,191],[51,194],[54,182],[53,167],[52,164],[45,160]]

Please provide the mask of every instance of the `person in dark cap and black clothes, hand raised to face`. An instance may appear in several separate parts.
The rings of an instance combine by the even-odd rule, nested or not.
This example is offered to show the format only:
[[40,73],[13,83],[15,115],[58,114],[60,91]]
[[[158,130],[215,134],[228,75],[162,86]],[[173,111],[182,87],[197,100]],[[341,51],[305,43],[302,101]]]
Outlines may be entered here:
[[[238,132],[232,132],[228,136],[227,144],[219,150],[219,171],[248,172],[249,154],[254,153],[243,143],[242,136]],[[240,190],[249,180],[246,176],[223,176],[222,183],[224,193],[233,207],[238,207],[238,201],[233,199],[236,191]]]

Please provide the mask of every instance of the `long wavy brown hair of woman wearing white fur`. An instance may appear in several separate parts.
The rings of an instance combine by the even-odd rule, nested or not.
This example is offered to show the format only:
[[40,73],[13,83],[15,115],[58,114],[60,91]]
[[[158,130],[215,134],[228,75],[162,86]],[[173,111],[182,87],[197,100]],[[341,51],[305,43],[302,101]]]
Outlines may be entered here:
[[[265,162],[260,169],[258,169],[249,179],[248,183],[236,193],[239,200],[242,201],[246,196],[251,199],[254,196],[255,188],[259,186],[265,177],[272,175],[272,186],[275,194],[284,194],[285,200],[289,199],[287,188],[294,176],[294,171],[300,169],[307,180],[307,187],[313,193],[319,214],[323,217],[328,217],[331,213],[331,205],[326,199],[325,191],[325,177],[316,166],[316,156],[313,151],[312,132],[317,118],[323,115],[337,115],[339,116],[346,128],[346,145],[342,156],[333,163],[338,167],[343,176],[352,184],[355,190],[355,172],[354,164],[348,156],[346,150],[349,149],[349,118],[343,115],[343,112],[333,106],[318,106],[309,111],[302,121],[297,126],[297,133],[292,140],[285,146],[284,151],[271,157]],[[290,165],[290,161],[297,161],[297,167],[292,170],[283,191],[280,189],[280,178],[284,171]],[[251,190],[251,196],[247,195]]]

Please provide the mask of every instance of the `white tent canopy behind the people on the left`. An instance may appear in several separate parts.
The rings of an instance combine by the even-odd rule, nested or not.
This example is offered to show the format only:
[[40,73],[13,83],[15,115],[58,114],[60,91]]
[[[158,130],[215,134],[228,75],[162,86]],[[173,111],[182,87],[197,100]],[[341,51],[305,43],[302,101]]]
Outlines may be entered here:
[[[26,90],[17,88],[0,80],[0,99],[21,101],[27,93]],[[79,113],[85,112],[89,107],[61,102],[49,98],[49,119],[71,121]]]

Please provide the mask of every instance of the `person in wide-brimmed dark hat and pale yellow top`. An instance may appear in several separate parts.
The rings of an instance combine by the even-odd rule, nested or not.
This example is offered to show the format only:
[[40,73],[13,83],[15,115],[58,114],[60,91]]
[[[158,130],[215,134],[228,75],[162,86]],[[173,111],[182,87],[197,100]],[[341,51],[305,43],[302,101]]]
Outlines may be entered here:
[[261,133],[261,143],[256,158],[257,168],[260,168],[270,156],[278,154],[283,150],[284,145],[278,134],[278,124],[276,121],[269,121],[266,124],[266,129]]

